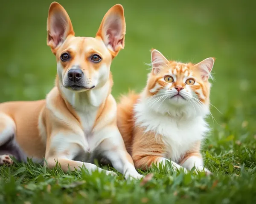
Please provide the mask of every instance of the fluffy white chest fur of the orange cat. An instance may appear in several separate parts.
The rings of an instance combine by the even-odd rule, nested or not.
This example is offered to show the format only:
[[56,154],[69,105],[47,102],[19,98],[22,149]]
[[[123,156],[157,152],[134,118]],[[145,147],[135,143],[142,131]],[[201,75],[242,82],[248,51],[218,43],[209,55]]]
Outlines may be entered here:
[[134,107],[136,124],[160,137],[166,146],[166,159],[178,161],[209,130],[203,116],[177,118],[150,110],[145,104]]

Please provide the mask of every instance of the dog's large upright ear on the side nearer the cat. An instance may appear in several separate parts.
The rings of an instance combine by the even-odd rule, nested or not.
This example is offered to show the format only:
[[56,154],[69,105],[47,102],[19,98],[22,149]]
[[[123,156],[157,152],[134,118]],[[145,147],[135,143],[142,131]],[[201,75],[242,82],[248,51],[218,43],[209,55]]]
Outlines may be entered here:
[[116,4],[105,14],[96,34],[96,37],[103,40],[113,57],[125,47],[125,29],[124,8]]

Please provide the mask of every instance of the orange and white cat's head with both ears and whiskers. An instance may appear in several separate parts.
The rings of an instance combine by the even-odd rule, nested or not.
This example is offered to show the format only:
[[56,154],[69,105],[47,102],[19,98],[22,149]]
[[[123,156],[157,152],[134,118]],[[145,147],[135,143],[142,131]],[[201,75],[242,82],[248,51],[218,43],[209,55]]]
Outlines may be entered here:
[[160,112],[175,108],[207,112],[209,78],[214,61],[212,57],[197,64],[169,61],[159,51],[152,49],[152,71],[145,89],[151,108]]

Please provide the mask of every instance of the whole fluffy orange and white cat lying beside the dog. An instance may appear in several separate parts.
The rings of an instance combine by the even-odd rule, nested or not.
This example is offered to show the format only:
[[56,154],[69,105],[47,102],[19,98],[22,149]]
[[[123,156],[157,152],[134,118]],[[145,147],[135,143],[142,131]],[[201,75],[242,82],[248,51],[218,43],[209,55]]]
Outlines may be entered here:
[[210,72],[214,58],[198,64],[169,61],[151,51],[152,71],[141,94],[122,96],[117,126],[136,168],[170,161],[174,170],[204,168],[200,144],[209,130]]

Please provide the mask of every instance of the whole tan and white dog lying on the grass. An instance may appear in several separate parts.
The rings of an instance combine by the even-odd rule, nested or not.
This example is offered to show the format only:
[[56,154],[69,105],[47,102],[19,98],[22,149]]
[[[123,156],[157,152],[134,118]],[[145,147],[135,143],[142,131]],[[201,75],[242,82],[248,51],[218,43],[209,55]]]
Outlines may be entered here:
[[111,95],[110,66],[124,48],[125,27],[123,7],[117,4],[105,14],[95,38],[75,37],[64,8],[50,5],[47,45],[57,61],[55,87],[46,100],[0,105],[1,164],[12,164],[10,155],[39,163],[45,158],[49,168],[58,161],[64,171],[84,166],[115,175],[92,164],[100,156],[125,178],[143,177],[125,149]]

